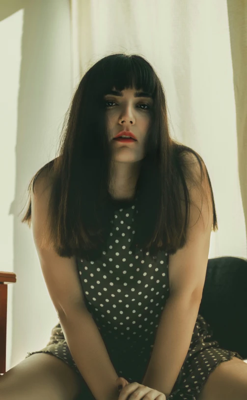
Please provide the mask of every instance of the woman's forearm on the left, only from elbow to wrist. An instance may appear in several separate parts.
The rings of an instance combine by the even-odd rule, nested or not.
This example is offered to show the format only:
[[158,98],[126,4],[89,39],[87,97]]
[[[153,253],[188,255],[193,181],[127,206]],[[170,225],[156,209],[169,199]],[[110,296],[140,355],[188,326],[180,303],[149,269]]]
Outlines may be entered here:
[[117,400],[118,375],[91,314],[84,309],[58,316],[72,357],[94,398]]

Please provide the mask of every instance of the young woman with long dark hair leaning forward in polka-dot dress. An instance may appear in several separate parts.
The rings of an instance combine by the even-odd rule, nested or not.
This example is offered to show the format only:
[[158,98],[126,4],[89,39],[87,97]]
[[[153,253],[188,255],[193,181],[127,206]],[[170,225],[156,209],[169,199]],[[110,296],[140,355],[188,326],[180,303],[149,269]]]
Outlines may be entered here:
[[242,357],[198,314],[218,229],[210,178],[171,138],[144,58],[112,54],[85,73],[29,194],[22,222],[59,322],[1,377],[3,400],[226,400],[227,382],[244,393]]

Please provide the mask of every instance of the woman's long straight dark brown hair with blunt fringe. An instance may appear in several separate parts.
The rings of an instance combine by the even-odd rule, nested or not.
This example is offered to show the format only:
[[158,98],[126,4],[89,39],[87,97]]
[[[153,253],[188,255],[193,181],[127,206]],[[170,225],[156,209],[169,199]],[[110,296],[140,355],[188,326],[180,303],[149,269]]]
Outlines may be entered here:
[[[29,183],[28,209],[21,222],[30,227],[31,188],[46,169],[53,176],[47,243],[52,243],[61,257],[99,257],[112,216],[108,188],[113,167],[104,95],[113,87],[119,91],[142,89],[154,100],[136,186],[138,213],[131,249],[135,252],[138,247],[151,256],[158,250],[174,254],[186,243],[188,182],[202,192],[200,183],[206,176],[215,232],[218,225],[214,196],[202,158],[171,138],[162,83],[154,68],[138,55],[111,54],[84,74],[66,113],[57,156],[40,168]],[[193,173],[195,163],[200,166],[199,178]]]

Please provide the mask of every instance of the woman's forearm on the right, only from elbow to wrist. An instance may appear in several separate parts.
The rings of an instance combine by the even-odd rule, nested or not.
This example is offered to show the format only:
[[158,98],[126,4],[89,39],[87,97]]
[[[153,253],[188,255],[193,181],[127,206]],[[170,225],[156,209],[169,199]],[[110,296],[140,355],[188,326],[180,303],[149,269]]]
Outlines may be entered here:
[[142,385],[165,394],[176,382],[189,351],[200,299],[170,296],[166,301]]

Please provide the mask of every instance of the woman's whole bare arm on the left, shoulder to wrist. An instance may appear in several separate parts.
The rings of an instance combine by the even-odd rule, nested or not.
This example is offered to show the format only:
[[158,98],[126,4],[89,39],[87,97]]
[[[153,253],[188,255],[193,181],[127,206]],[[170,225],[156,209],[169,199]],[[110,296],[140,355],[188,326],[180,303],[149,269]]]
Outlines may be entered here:
[[51,184],[40,174],[31,191],[32,232],[43,276],[71,355],[96,400],[117,400],[118,375],[101,334],[86,308],[75,257],[59,257],[41,246],[47,234]]

